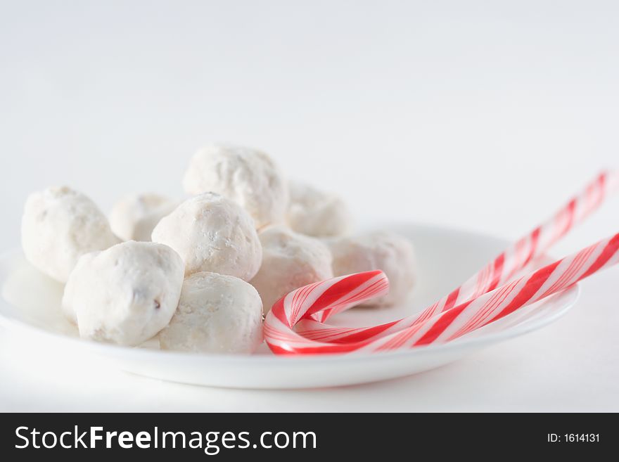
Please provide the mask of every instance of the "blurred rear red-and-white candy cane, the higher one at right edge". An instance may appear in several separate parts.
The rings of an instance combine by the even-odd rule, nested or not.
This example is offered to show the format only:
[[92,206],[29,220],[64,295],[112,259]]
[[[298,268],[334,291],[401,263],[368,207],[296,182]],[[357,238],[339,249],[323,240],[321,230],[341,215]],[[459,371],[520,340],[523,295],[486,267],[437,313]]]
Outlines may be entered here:
[[[388,335],[400,328],[413,326],[437,313],[445,312],[497,288],[500,284],[506,283],[514,274],[526,267],[532,259],[543,255],[551,245],[588,217],[618,186],[618,172],[601,172],[580,194],[561,207],[551,219],[510,245],[459,288],[445,295],[419,314],[405,318],[406,321],[400,320],[396,323],[390,323],[390,326],[385,328],[381,335]],[[298,326],[298,332],[302,335],[320,338],[326,342],[358,341],[362,340],[364,336],[375,335],[376,328],[331,327],[323,323],[329,316],[340,311],[342,311],[341,307],[337,307],[314,314],[312,316],[314,321],[304,321]]]

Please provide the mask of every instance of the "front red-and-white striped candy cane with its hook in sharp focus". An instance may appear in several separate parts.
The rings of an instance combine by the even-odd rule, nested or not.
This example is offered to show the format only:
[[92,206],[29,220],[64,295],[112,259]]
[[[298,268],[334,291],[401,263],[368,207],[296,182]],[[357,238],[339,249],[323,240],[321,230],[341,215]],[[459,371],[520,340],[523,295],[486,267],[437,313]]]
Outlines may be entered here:
[[619,233],[390,335],[379,335],[387,325],[370,328],[376,330],[373,336],[345,343],[312,340],[295,332],[295,324],[312,314],[346,309],[388,291],[382,271],[341,276],[293,290],[281,298],[267,314],[264,336],[277,354],[376,352],[449,342],[618,262]]

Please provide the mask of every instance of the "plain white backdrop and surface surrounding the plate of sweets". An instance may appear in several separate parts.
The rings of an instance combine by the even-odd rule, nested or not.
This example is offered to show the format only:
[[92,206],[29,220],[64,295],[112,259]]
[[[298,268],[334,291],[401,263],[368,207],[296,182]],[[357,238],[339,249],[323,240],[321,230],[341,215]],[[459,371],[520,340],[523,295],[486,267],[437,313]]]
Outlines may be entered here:
[[[617,167],[619,9],[599,1],[0,2],[2,248],[30,191],[181,196],[208,141],[358,217],[516,238]],[[557,246],[619,231],[619,201]],[[452,366],[305,392],[90,370],[0,331],[4,410],[619,411],[617,269],[559,322]]]

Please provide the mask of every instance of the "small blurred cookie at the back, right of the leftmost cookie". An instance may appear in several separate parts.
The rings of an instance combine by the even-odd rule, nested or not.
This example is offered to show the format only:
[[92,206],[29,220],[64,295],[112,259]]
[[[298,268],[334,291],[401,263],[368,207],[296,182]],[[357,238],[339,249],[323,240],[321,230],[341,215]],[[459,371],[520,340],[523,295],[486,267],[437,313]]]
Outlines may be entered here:
[[170,214],[179,201],[153,193],[126,195],[110,212],[110,226],[122,240],[151,240],[159,220]]

